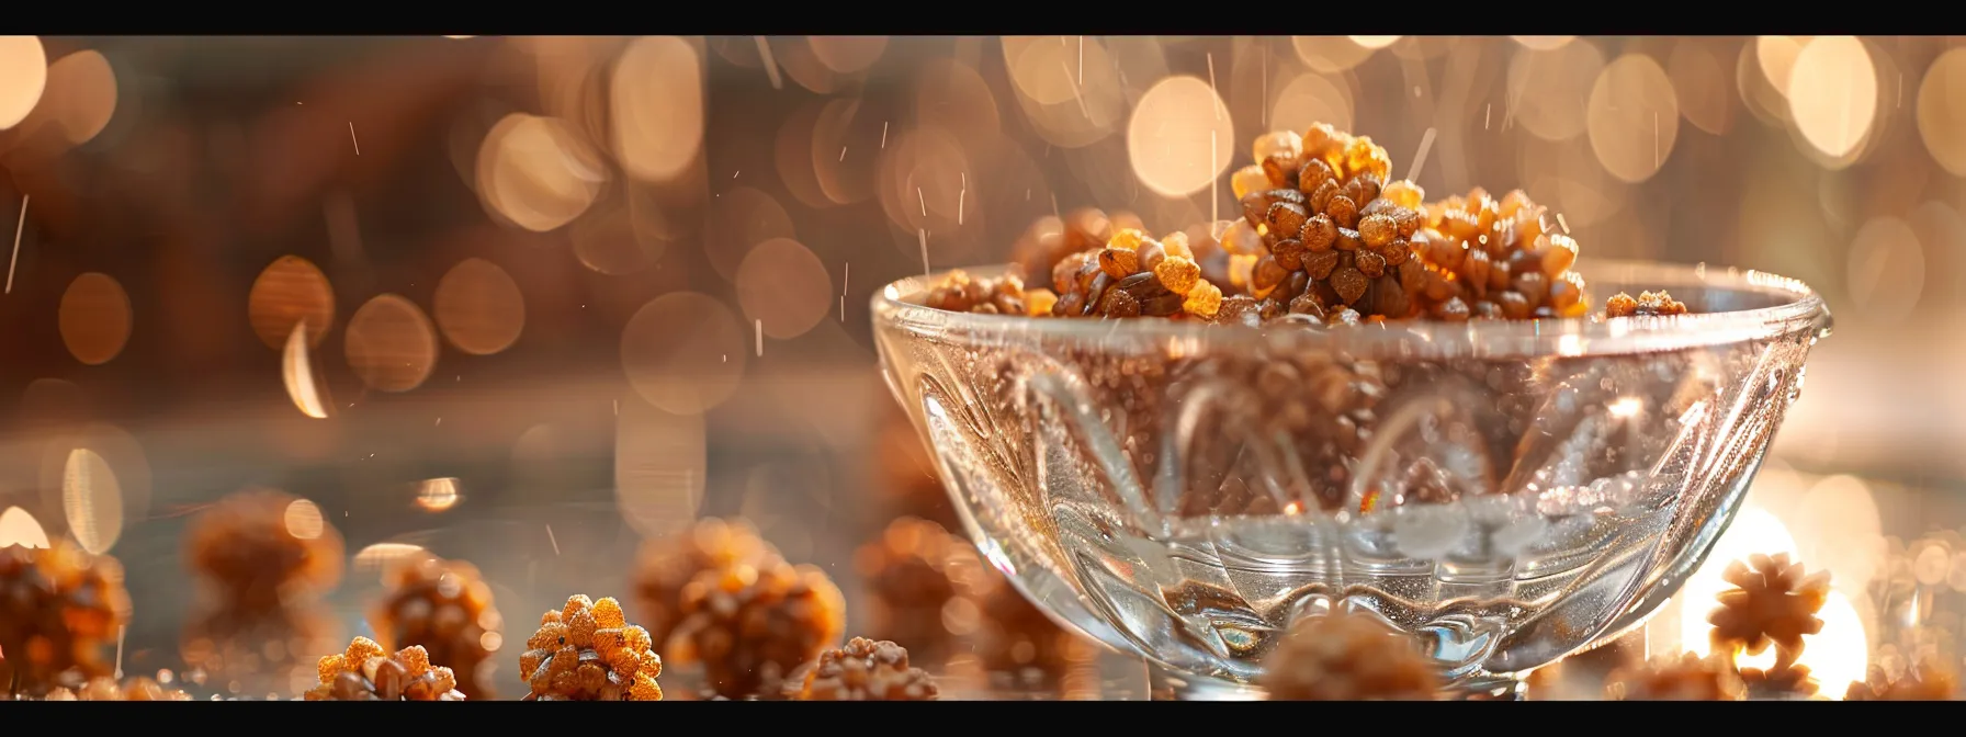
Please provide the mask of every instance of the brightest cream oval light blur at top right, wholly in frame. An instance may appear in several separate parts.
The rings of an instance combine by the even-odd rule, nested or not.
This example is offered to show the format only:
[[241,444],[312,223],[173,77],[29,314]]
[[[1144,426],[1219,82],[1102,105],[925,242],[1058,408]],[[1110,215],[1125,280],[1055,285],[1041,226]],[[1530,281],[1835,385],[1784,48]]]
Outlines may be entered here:
[[1819,151],[1842,157],[1878,114],[1878,67],[1854,35],[1809,41],[1789,69],[1789,116]]

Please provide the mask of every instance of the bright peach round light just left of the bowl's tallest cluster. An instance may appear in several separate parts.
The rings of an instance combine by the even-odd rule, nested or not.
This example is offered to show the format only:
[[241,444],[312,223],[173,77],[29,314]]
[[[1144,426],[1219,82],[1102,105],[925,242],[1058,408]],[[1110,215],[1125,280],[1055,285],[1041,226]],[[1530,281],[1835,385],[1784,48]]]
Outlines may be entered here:
[[1146,189],[1187,197],[1235,163],[1235,122],[1205,79],[1168,77],[1132,110],[1127,153]]

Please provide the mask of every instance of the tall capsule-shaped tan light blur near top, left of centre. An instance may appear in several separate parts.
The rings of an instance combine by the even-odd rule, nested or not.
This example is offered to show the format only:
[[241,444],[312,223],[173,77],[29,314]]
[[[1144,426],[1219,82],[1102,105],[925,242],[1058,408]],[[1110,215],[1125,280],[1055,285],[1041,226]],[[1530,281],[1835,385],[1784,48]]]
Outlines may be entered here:
[[670,181],[702,145],[702,55],[674,35],[629,43],[613,71],[613,147],[621,169],[641,181]]

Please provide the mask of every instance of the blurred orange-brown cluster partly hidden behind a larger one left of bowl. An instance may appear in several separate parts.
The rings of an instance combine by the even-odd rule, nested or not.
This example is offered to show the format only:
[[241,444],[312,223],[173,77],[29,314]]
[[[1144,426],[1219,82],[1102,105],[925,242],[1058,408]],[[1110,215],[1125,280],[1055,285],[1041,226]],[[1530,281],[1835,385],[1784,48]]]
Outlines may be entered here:
[[682,533],[645,542],[635,566],[635,601],[657,652],[666,652],[668,635],[682,621],[682,588],[690,580],[706,570],[759,566],[767,560],[781,560],[779,548],[743,519],[710,517]]

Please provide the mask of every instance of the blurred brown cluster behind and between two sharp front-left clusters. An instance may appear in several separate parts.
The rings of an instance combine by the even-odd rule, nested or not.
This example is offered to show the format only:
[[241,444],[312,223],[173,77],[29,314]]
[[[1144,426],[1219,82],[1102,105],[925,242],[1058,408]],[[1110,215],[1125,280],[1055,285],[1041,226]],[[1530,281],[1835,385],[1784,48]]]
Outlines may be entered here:
[[423,556],[391,568],[387,592],[370,611],[370,627],[383,649],[425,649],[433,664],[456,674],[464,696],[495,698],[492,652],[505,623],[476,566]]

